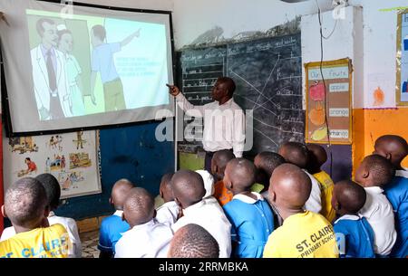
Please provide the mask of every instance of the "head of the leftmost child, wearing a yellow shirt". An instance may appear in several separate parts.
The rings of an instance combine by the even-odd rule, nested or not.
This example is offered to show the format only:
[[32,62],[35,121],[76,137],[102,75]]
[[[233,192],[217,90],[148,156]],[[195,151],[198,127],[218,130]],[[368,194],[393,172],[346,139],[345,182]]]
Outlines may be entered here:
[[24,177],[5,193],[5,214],[12,224],[31,227],[44,215],[47,196],[44,186],[33,177]]

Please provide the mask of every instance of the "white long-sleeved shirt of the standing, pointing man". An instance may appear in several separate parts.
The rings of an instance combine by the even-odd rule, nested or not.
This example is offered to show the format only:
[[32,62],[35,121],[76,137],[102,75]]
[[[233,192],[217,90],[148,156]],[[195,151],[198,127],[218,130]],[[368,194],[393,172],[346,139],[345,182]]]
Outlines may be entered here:
[[232,148],[235,157],[242,157],[245,145],[245,114],[233,99],[222,105],[219,105],[218,101],[213,101],[202,106],[194,106],[180,92],[176,100],[186,115],[203,118],[204,150],[218,151]]

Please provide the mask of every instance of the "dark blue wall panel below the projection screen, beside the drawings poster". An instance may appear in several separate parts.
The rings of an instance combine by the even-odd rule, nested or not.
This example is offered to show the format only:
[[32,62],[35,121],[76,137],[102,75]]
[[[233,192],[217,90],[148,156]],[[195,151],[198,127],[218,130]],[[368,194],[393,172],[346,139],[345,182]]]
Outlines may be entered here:
[[161,176],[174,171],[174,144],[156,140],[158,124],[102,129],[102,194],[69,198],[56,214],[82,219],[112,213],[109,197],[113,184],[120,178],[128,178],[153,196],[158,195]]

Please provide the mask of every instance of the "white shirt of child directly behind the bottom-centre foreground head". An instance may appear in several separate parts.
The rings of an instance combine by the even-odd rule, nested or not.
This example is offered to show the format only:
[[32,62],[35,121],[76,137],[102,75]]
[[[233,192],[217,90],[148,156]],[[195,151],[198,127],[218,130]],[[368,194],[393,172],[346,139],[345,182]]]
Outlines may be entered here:
[[187,224],[199,224],[219,243],[219,258],[231,255],[231,224],[220,206],[203,199],[183,209],[183,216],[171,226],[174,233]]

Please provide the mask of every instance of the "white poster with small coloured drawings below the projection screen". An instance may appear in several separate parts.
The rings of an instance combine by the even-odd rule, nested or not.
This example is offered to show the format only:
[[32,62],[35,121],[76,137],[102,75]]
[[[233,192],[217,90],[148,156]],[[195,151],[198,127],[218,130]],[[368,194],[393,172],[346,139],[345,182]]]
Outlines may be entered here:
[[61,198],[101,193],[98,132],[3,138],[4,189],[22,177],[50,173]]

